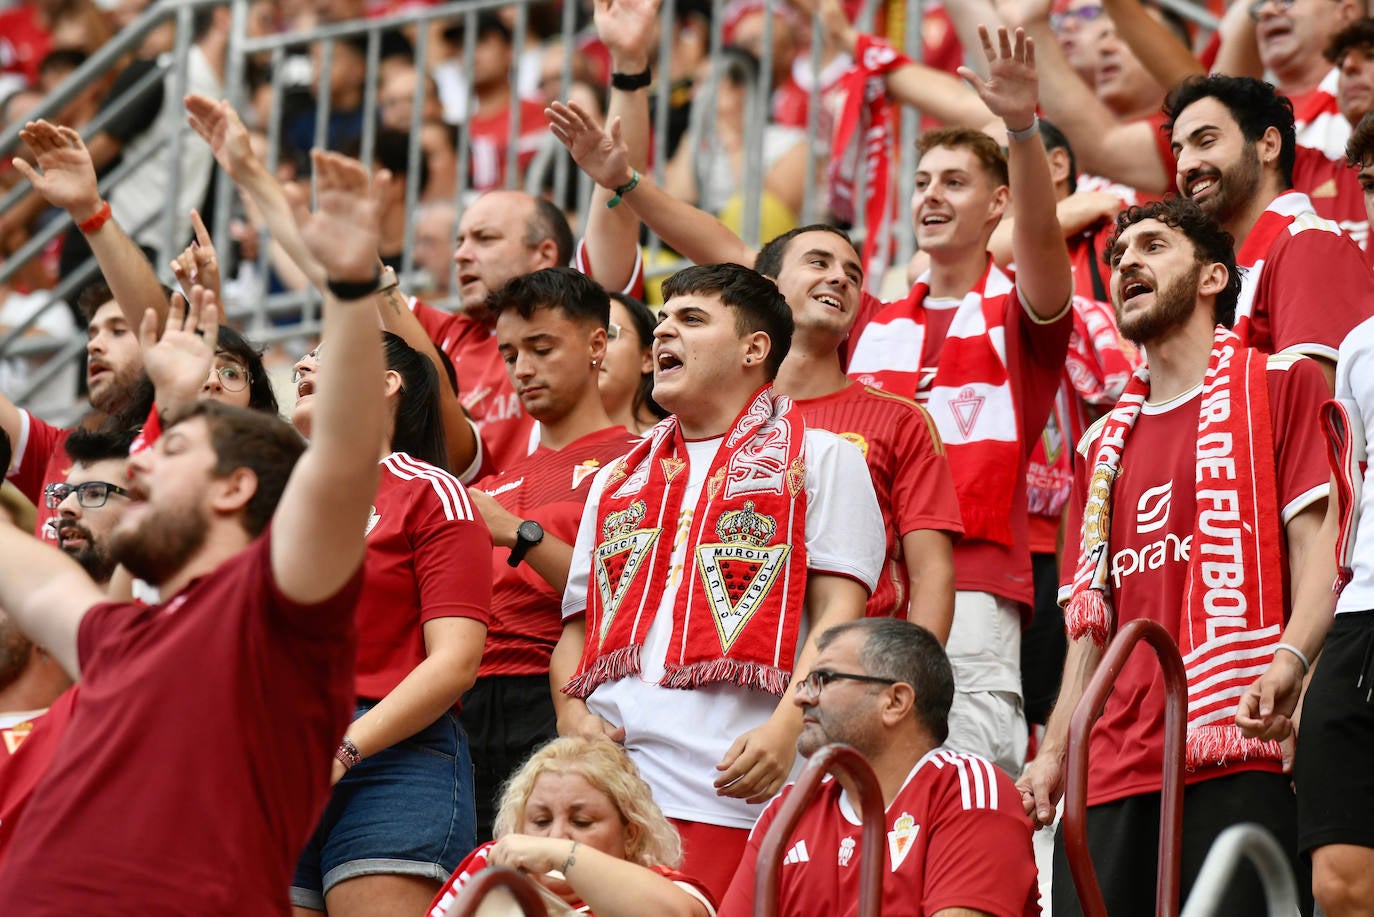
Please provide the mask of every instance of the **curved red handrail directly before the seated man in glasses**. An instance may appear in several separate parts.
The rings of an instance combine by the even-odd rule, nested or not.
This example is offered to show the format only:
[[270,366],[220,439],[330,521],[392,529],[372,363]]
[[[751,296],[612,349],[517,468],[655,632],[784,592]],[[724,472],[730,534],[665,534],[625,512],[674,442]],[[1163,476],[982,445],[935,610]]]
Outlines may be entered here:
[[778,885],[782,858],[787,841],[797,829],[807,806],[820,792],[826,774],[846,777],[857,799],[863,819],[863,840],[859,846],[859,917],[878,917],[882,913],[882,870],[886,863],[883,836],[888,815],[882,804],[882,788],[867,759],[849,745],[826,745],[807,762],[791,793],[778,808],[778,818],[768,828],[758,847],[754,869],[754,917],[778,917]]

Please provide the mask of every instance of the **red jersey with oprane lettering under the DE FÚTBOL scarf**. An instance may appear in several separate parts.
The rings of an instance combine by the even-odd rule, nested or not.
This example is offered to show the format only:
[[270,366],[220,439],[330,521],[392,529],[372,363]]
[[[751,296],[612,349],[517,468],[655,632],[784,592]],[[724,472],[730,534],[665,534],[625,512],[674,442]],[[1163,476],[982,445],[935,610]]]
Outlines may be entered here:
[[[1318,408],[1326,379],[1308,359],[1270,359],[1267,374],[1274,425],[1274,459],[1283,521],[1326,495],[1326,465]],[[1165,404],[1146,404],[1127,439],[1121,472],[1112,488],[1110,583],[1117,627],[1138,617],[1179,632],[1197,499],[1197,430],[1202,389]],[[1091,456],[1102,428],[1090,430],[1077,462],[1069,502],[1070,550],[1063,553],[1061,597],[1072,586],[1083,531]],[[1286,571],[1285,571],[1286,572]],[[1287,597],[1287,584],[1283,588]],[[1160,792],[1164,755],[1164,681],[1149,653],[1135,653],[1116,681],[1088,752],[1088,804]],[[1191,771],[1190,782],[1241,770],[1278,770],[1268,760],[1237,762]]]

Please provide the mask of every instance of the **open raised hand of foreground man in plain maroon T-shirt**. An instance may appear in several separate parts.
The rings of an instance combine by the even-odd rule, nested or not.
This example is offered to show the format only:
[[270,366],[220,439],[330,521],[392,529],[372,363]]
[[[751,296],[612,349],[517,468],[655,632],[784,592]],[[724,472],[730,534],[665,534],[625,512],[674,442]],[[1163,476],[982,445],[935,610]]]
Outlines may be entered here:
[[331,280],[361,282],[376,276],[381,199],[392,173],[371,181],[357,159],[312,150],[315,213],[298,213],[301,239]]

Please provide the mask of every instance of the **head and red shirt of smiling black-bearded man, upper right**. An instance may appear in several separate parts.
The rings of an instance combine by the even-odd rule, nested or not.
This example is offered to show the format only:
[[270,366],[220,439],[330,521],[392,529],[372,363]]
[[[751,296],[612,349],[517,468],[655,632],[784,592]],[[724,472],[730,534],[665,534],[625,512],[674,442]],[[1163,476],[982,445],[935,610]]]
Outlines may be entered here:
[[[1318,360],[1327,388],[1347,333],[1374,311],[1374,275],[1340,227],[1293,191],[1293,106],[1249,77],[1195,77],[1164,103],[1179,194],[1235,239],[1235,331]],[[1312,308],[1320,278],[1322,308]]]

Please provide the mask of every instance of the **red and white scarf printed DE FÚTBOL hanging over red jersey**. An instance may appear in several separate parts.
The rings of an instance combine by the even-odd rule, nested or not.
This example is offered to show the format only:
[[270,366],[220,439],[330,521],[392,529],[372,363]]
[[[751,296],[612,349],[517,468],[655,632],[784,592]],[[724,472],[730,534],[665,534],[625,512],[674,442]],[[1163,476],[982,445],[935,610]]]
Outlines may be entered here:
[[[1278,742],[1245,738],[1235,705],[1264,671],[1283,630],[1282,522],[1274,469],[1267,356],[1216,329],[1198,414],[1197,518],[1179,610],[1189,682],[1187,767],[1281,760]],[[1079,566],[1065,613],[1069,637],[1105,646],[1116,630],[1110,599],[1112,487],[1150,392],[1142,367],[1094,443]],[[1149,456],[1142,456],[1149,461]]]

